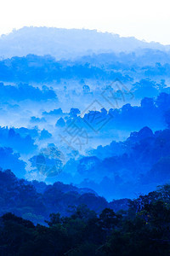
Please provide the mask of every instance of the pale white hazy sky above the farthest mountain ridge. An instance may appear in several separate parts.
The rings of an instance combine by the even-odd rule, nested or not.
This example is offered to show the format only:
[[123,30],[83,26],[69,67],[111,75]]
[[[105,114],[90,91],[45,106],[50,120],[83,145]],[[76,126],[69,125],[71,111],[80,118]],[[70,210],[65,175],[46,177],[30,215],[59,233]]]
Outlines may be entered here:
[[83,27],[170,44],[170,1],[1,0],[0,34],[22,26]]

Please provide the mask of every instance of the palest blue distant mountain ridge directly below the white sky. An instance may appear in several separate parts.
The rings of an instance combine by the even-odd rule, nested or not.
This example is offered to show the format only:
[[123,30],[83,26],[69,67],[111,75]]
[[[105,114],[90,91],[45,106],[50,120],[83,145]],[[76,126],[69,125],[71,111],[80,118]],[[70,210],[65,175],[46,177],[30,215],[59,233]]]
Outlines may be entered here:
[[57,60],[93,53],[120,53],[141,49],[170,50],[170,45],[146,43],[136,38],[122,38],[109,32],[54,27],[23,27],[0,37],[0,57],[28,54],[52,55]]

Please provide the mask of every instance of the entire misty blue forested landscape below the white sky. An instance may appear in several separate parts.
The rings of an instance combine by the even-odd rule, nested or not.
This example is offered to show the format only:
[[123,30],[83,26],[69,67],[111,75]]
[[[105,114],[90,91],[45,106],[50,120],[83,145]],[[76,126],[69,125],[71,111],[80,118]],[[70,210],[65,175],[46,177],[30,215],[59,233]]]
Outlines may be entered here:
[[170,255],[169,49],[0,37],[0,255]]

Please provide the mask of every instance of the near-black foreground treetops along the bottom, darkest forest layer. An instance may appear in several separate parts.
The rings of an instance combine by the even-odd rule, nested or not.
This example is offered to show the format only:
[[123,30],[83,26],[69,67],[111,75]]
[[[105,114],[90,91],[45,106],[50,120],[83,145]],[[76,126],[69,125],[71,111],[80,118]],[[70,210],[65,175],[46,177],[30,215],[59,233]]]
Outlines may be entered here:
[[0,255],[167,256],[170,255],[170,185],[141,195],[118,214],[99,215],[82,205],[71,217],[50,215],[47,226],[4,214]]

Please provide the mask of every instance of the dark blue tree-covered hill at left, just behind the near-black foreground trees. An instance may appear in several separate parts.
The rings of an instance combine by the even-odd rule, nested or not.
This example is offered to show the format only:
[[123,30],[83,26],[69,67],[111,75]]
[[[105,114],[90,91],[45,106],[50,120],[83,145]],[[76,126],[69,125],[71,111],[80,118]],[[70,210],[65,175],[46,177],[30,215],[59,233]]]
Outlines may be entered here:
[[35,224],[44,224],[51,212],[70,216],[82,205],[98,213],[105,207],[118,211],[127,209],[127,199],[109,203],[92,189],[77,189],[59,182],[53,185],[28,182],[15,177],[10,170],[0,171],[0,216],[12,212]]

